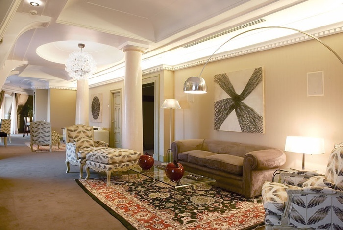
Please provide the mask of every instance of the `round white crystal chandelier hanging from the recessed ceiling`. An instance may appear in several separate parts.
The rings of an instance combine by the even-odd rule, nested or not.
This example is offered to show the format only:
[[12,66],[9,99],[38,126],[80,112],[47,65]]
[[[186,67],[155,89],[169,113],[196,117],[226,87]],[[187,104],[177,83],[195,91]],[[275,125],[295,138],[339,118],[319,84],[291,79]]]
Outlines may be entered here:
[[92,55],[87,52],[82,52],[85,44],[79,43],[78,47],[81,48],[81,51],[75,51],[69,54],[66,60],[65,70],[68,72],[69,77],[73,77],[76,80],[83,80],[94,74],[97,70],[97,63],[94,61]]

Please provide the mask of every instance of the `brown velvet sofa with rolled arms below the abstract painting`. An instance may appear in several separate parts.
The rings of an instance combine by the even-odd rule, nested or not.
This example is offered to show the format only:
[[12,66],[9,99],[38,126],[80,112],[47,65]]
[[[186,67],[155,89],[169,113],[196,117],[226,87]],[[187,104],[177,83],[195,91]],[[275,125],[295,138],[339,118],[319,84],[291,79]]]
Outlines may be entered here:
[[261,195],[263,183],[286,162],[282,150],[229,141],[177,140],[171,148],[186,171],[215,179],[218,187],[245,198]]

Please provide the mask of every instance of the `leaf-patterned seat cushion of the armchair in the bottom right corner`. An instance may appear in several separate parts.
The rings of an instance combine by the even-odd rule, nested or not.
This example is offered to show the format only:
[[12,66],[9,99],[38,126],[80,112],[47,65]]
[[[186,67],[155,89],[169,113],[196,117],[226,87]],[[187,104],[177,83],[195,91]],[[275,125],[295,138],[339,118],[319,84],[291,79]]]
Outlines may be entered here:
[[266,214],[282,215],[287,201],[287,189],[301,189],[300,187],[266,181],[262,186],[262,203]]

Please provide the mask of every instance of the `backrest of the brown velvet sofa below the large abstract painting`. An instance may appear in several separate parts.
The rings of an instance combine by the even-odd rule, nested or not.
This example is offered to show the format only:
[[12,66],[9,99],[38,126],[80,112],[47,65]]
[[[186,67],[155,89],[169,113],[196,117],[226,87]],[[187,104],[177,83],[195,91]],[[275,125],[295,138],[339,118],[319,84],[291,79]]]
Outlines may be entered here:
[[[229,154],[239,157],[244,157],[246,153],[256,150],[266,150],[270,147],[259,145],[248,145],[238,142],[220,141],[205,139],[202,145],[202,150],[213,153]],[[180,151],[181,152],[181,151]],[[182,153],[182,152],[181,152]]]

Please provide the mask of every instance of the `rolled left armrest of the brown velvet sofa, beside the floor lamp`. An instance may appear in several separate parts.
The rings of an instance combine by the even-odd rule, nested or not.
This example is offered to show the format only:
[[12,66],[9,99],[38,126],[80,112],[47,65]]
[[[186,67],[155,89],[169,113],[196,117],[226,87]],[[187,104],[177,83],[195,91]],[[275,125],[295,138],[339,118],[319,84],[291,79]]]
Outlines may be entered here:
[[204,139],[187,139],[172,142],[171,150],[174,159],[177,161],[177,154],[191,150],[201,150]]

